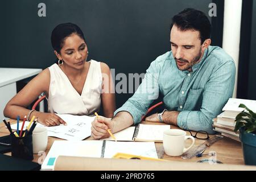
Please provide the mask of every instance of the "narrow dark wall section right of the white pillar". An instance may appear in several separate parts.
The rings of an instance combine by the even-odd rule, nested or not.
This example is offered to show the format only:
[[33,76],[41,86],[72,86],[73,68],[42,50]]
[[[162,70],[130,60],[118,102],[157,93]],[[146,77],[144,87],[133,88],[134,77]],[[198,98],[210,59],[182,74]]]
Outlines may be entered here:
[[237,98],[256,100],[256,1],[242,3]]

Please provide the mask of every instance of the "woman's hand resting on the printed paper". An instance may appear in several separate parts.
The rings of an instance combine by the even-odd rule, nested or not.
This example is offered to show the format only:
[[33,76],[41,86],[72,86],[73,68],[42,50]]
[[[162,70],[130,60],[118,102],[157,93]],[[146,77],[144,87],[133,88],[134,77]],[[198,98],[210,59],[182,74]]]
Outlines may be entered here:
[[38,122],[46,126],[57,126],[60,124],[67,125],[67,123],[54,113],[39,113]]

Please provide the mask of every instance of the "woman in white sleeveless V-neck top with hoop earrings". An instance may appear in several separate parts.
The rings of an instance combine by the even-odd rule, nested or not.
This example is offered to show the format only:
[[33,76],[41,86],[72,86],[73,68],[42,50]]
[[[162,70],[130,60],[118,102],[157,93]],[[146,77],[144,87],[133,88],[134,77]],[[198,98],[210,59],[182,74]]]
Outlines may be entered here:
[[[44,69],[7,103],[5,117],[28,115],[30,121],[35,115],[43,125],[65,125],[54,113],[92,115],[102,102],[105,117],[112,118],[115,96],[110,69],[105,63],[86,61],[88,47],[81,29],[73,23],[59,24],[52,31],[51,43],[58,63]],[[50,113],[26,109],[43,92]]]

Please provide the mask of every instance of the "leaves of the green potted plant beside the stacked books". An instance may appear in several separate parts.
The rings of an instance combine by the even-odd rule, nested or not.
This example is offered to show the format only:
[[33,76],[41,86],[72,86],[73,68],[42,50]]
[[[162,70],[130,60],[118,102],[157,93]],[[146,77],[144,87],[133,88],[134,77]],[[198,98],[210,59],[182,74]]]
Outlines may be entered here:
[[240,104],[239,107],[242,107],[245,110],[237,114],[234,131],[236,132],[241,127],[245,127],[245,133],[256,134],[256,113],[254,113],[244,104]]

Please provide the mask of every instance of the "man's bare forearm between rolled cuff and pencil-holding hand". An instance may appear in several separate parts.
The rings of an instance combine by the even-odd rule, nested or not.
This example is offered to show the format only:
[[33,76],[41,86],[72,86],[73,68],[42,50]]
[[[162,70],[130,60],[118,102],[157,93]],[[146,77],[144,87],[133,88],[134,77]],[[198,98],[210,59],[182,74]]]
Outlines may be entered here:
[[117,133],[118,131],[126,129],[134,124],[132,115],[127,111],[117,113],[117,115],[112,119],[112,122],[114,122],[113,133]]

